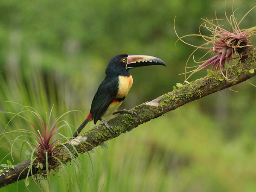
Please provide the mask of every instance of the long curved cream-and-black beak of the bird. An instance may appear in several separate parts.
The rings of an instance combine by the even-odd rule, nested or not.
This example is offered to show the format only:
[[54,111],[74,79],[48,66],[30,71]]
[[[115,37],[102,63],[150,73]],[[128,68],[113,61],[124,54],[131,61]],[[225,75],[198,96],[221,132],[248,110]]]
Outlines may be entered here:
[[126,69],[134,67],[143,67],[148,65],[163,65],[165,62],[160,58],[148,56],[148,55],[130,55],[127,57]]

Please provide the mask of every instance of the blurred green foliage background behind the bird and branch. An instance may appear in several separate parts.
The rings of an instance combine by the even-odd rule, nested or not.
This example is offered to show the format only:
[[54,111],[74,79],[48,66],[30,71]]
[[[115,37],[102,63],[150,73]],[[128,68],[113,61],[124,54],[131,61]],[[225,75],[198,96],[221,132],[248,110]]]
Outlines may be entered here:
[[[232,3],[226,2],[228,17]],[[79,110],[84,114],[71,112],[62,118],[74,126],[73,132],[90,111],[108,61],[120,53],[152,55],[167,64],[166,69],[149,66],[131,70],[134,84],[121,108],[130,109],[168,93],[176,83],[183,83],[184,76],[178,74],[184,72],[194,50],[182,42],[175,48],[175,16],[178,35],[196,34],[201,18],[214,18],[215,10],[218,19],[226,20],[224,6],[224,0],[1,0],[0,111],[23,111],[5,101],[31,106],[44,119],[53,105],[53,118]],[[253,6],[254,0],[235,0],[238,20]],[[255,18],[253,10],[240,29],[256,26]],[[230,28],[227,21],[221,23]],[[198,37],[186,41],[204,43]],[[198,51],[195,60],[204,54]],[[194,65],[191,59],[189,66]],[[201,70],[189,80],[206,75],[206,70]],[[256,83],[255,78],[250,81]],[[95,153],[81,155],[76,162],[79,166],[69,163],[67,169],[50,177],[51,190],[255,192],[256,88],[242,83],[232,90],[184,105],[106,142],[108,149],[97,147]],[[24,116],[35,122],[31,115]],[[11,117],[0,114],[1,133]],[[93,126],[89,123],[84,131]],[[6,131],[19,128],[34,131],[18,117]],[[67,127],[60,132],[72,135]],[[18,136],[8,134],[0,145]],[[30,137],[22,138],[35,143]],[[12,149],[20,146],[15,142]],[[12,142],[0,148],[0,159],[11,147]],[[21,162],[26,159],[25,151],[21,159],[19,151],[13,157],[12,164]],[[11,159],[9,155],[1,163]],[[46,180],[41,180],[41,189],[35,182],[26,189],[21,180],[0,191],[16,189],[49,191]]]

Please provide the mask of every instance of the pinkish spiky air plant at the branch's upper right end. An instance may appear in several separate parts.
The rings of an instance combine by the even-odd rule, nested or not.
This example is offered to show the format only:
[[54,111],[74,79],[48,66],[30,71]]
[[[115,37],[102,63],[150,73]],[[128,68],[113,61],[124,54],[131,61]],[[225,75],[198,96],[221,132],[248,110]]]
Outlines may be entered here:
[[[250,11],[253,10],[255,7],[250,9]],[[232,29],[233,32],[230,32],[230,30],[226,30],[221,27],[221,25],[218,22],[216,12],[215,12],[215,19],[212,19],[212,20],[203,19],[204,23],[202,23],[199,27],[199,34],[185,35],[183,37],[179,37],[175,30],[175,33],[179,38],[177,41],[181,40],[185,44],[188,44],[188,43],[183,41],[182,38],[188,37],[188,36],[201,36],[205,41],[207,41],[205,44],[198,47],[188,44],[188,45],[191,45],[192,47],[196,47],[196,49],[192,52],[189,58],[191,58],[194,52],[198,49],[209,50],[204,56],[206,56],[208,53],[212,55],[211,58],[205,61],[201,61],[201,59],[204,58],[204,56],[201,59],[199,59],[198,63],[202,63],[202,64],[200,64],[199,66],[195,66],[197,68],[195,70],[190,71],[192,73],[189,75],[189,77],[192,76],[192,74],[194,74],[195,72],[198,72],[199,70],[202,70],[205,67],[210,66],[210,70],[214,70],[214,71],[219,70],[221,74],[224,76],[224,78],[227,79],[227,72],[228,72],[228,67],[230,66],[230,63],[232,65],[233,64],[232,61],[234,59],[240,60],[241,58],[243,58],[245,55],[249,53],[250,49],[253,47],[252,45],[250,45],[251,43],[250,39],[256,32],[256,26],[250,29],[240,29],[239,25],[241,21],[250,11],[248,11],[244,15],[244,17],[242,17],[239,23],[237,23],[236,21],[236,17],[234,15],[235,11],[233,11],[233,14],[230,16],[230,20],[228,19],[225,11],[226,18],[230,23],[230,29]],[[216,24],[214,24],[214,22]],[[209,32],[212,33],[212,36],[202,35],[201,27],[205,27]],[[189,58],[186,62],[186,67],[185,67],[186,80],[189,78],[189,77],[186,78],[186,73],[190,73],[190,72],[186,72],[186,68],[188,68],[187,64],[188,64]],[[226,70],[225,75],[223,73],[224,70]]]

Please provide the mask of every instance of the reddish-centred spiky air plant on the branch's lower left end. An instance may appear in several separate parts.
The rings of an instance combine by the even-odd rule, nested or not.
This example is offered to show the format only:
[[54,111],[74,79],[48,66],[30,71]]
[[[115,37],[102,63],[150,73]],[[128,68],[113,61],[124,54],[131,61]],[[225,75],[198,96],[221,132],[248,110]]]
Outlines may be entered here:
[[[12,103],[15,103],[15,102],[12,102]],[[15,104],[18,104],[18,103],[15,103]],[[20,104],[18,104],[18,105],[20,105]],[[75,157],[77,157],[77,156],[74,156],[69,151],[68,148],[67,148],[67,151],[69,152],[69,154],[56,152],[57,145],[58,145],[59,141],[61,141],[61,140],[69,141],[70,140],[70,138],[67,138],[64,135],[58,133],[58,131],[61,128],[63,128],[64,126],[68,126],[68,128],[70,129],[70,133],[72,134],[72,130],[70,128],[70,125],[67,124],[66,121],[62,121],[61,118],[64,115],[66,115],[67,113],[70,113],[70,112],[73,112],[73,111],[76,111],[76,110],[68,111],[68,112],[62,114],[61,116],[58,116],[52,123],[50,123],[50,118],[52,116],[52,110],[53,110],[53,107],[52,107],[52,109],[49,113],[49,117],[47,118],[46,123],[45,123],[44,120],[42,119],[42,117],[39,115],[39,113],[35,111],[35,109],[33,109],[31,107],[23,106],[23,105],[20,105],[20,106],[25,108],[25,110],[21,111],[19,113],[3,112],[3,111],[1,111],[0,113],[13,114],[14,116],[9,120],[9,122],[11,122],[12,119],[17,117],[17,116],[23,118],[26,122],[29,122],[29,124],[32,125],[32,127],[33,127],[33,129],[35,129],[35,131],[29,131],[29,130],[26,130],[26,129],[18,129],[18,130],[14,130],[14,131],[5,132],[5,130],[4,130],[3,131],[4,133],[0,134],[0,140],[6,134],[12,134],[12,133],[15,133],[15,132],[17,132],[17,133],[28,133],[29,135],[25,135],[25,134],[19,135],[15,140],[9,140],[6,143],[4,143],[3,145],[6,145],[7,143],[13,142],[13,144],[12,144],[12,147],[13,147],[13,145],[16,141],[23,142],[23,145],[25,143],[28,144],[30,146],[30,149],[27,149],[25,154],[27,155],[27,158],[30,159],[30,162],[31,162],[30,164],[35,165],[35,167],[38,168],[38,172],[36,174],[33,174],[32,173],[32,166],[29,166],[27,177],[25,179],[25,185],[26,186],[29,185],[29,178],[28,177],[29,177],[29,173],[31,173],[32,180],[34,180],[34,181],[39,181],[40,182],[40,180],[42,178],[46,177],[47,181],[48,181],[49,191],[51,191],[50,190],[50,183],[49,183],[49,175],[51,174],[52,169],[55,170],[55,172],[58,172],[58,168],[54,169],[55,166],[53,166],[53,165],[55,165],[57,163],[58,165],[61,165],[62,168],[67,169],[67,167],[64,165],[64,163],[62,163],[63,158],[67,156],[67,158],[71,157],[72,159],[75,159]],[[36,121],[38,122],[39,126],[33,124],[31,121],[29,121],[29,119],[26,119],[21,114],[21,113],[25,113],[25,112],[32,113],[32,115],[35,117]],[[64,122],[64,124],[62,122]],[[7,127],[7,125],[6,125],[6,127]],[[61,135],[61,138],[53,140],[53,136],[55,134]],[[22,136],[32,137],[33,139],[36,140],[36,144],[32,143],[32,142],[29,142],[27,140],[20,139],[20,137],[22,137]],[[3,145],[0,145],[0,147],[2,147]],[[24,150],[23,145],[21,145],[21,149],[18,149],[18,150],[23,151]],[[76,149],[74,149],[74,150],[76,151]],[[9,154],[12,155],[13,151],[17,151],[17,150],[13,150],[11,148],[11,152]],[[77,151],[76,151],[76,153],[78,154]],[[8,155],[6,155],[6,157]],[[61,159],[59,159],[60,155],[62,156]],[[4,157],[3,159],[5,159],[6,157]],[[0,160],[0,163],[1,163],[1,161],[3,161],[3,160]],[[7,162],[9,162],[9,161],[7,161]],[[2,164],[2,165],[5,165],[5,164]],[[66,177],[66,181],[67,181],[66,172],[65,172],[65,177]],[[38,182],[35,182],[35,183],[36,183],[36,185],[38,185]],[[68,181],[67,181],[67,183],[68,183]],[[41,189],[40,185],[38,185],[38,187]]]

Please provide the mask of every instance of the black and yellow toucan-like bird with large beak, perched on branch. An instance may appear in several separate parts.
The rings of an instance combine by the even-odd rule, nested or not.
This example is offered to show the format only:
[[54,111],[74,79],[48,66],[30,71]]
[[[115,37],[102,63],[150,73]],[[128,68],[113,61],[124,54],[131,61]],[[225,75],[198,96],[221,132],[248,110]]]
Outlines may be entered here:
[[98,120],[102,121],[102,123],[108,127],[111,132],[113,132],[107,122],[102,119],[102,116],[108,116],[116,113],[131,113],[136,116],[134,111],[116,110],[122,104],[133,83],[129,70],[134,67],[148,65],[166,66],[161,59],[147,55],[128,56],[126,54],[120,54],[113,57],[108,63],[105,79],[99,85],[99,88],[93,98],[90,113],[73,134],[73,137],[77,137],[84,126],[92,120],[94,124],[96,124]]

